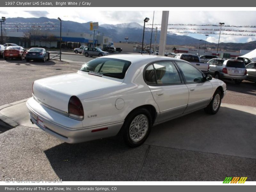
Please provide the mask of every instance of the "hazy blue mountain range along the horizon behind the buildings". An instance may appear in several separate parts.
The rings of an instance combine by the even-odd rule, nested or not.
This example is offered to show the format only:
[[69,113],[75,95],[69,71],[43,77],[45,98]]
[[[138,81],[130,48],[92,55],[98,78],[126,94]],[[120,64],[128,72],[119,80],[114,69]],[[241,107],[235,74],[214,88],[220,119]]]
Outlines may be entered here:
[[[5,26],[7,30],[15,31],[17,26],[19,26],[19,31],[27,32],[31,28],[38,28],[42,30],[59,31],[60,21],[58,19],[49,19],[46,17],[40,18],[6,18]],[[3,25],[3,28],[5,27]],[[12,29],[8,29],[12,28]],[[62,20],[62,32],[83,32],[92,34],[90,30],[90,22],[78,23],[75,21],[64,21]],[[95,31],[100,35],[104,34],[112,38],[113,42],[124,42],[124,37],[129,38],[129,42],[142,42],[143,26],[136,22],[132,23],[122,23],[122,24],[102,24],[99,29]],[[151,28],[145,28],[144,42],[145,44],[150,43],[151,38]],[[156,35],[156,44],[159,43],[160,31],[158,30]],[[152,34],[152,43],[154,43],[155,31]],[[168,33],[166,38],[166,44],[169,45],[182,45],[182,46],[192,46],[198,48],[199,40],[190,36],[182,36],[173,33]],[[201,41],[201,48],[205,44],[205,41]],[[217,44],[207,42],[207,47],[212,49],[217,49]],[[240,49],[253,50],[256,48],[256,41],[249,43],[220,43],[219,49],[224,50],[234,50],[238,51]]]

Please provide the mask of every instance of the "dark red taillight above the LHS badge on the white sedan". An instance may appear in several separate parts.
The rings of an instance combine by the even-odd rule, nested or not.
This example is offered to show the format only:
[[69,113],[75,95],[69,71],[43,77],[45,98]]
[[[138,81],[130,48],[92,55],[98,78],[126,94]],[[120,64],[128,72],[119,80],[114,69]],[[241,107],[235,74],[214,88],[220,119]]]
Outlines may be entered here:
[[78,120],[84,119],[83,105],[76,96],[70,97],[68,101],[68,116]]

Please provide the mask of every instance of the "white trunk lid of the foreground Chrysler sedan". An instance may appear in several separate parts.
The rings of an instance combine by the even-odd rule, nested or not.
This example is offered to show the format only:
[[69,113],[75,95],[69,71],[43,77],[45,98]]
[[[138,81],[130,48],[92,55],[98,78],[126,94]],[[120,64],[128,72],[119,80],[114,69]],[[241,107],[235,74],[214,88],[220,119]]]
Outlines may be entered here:
[[71,96],[119,84],[122,82],[77,72],[36,80],[33,93],[44,104],[68,112],[68,101]]

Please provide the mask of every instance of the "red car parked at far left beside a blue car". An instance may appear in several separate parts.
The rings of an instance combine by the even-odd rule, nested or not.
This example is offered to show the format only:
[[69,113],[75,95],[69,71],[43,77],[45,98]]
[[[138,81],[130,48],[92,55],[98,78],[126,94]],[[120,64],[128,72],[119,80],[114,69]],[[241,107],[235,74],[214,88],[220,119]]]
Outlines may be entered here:
[[20,46],[9,46],[4,50],[4,59],[19,58],[23,60],[26,57],[27,50]]

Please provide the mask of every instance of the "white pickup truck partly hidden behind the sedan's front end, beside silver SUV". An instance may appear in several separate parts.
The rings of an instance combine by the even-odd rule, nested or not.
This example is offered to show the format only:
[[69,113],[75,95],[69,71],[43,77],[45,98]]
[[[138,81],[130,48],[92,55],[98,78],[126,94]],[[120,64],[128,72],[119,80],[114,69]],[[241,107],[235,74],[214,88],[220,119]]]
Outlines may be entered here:
[[201,62],[198,55],[178,53],[173,58],[188,61],[191,65],[201,70],[205,75],[209,73],[209,64]]

